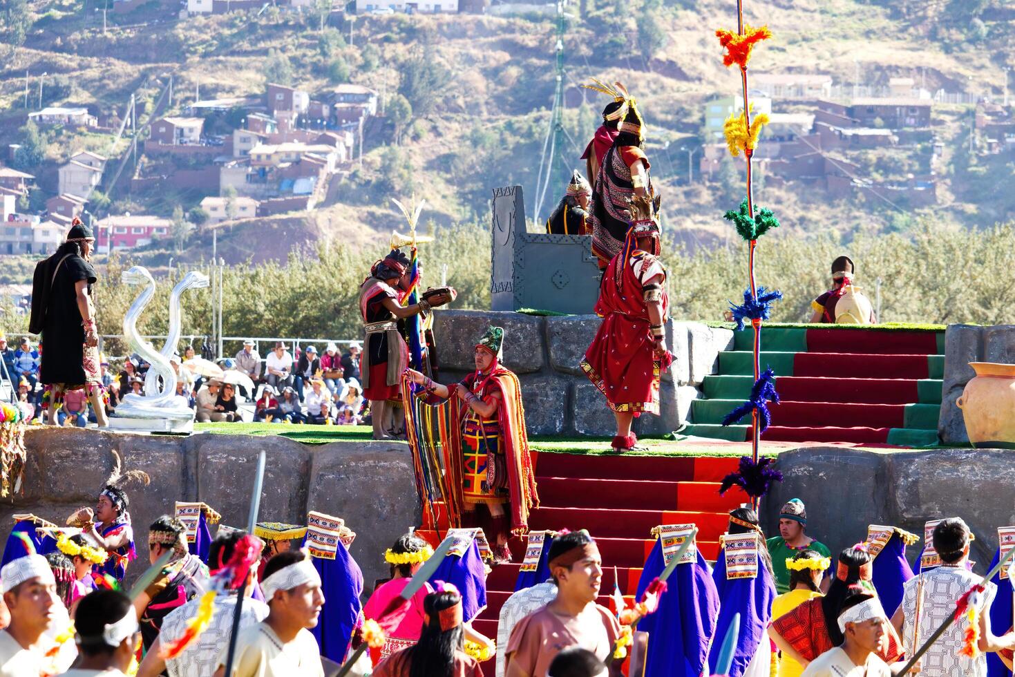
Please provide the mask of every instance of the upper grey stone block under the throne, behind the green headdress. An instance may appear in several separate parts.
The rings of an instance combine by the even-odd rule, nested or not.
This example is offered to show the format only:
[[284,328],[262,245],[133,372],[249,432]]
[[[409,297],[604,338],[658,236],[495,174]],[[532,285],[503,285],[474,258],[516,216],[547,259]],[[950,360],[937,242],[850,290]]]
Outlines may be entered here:
[[437,339],[437,359],[451,369],[474,371],[476,341],[491,325],[504,330],[503,364],[516,374],[543,368],[544,318],[492,311],[437,311],[433,333]]

